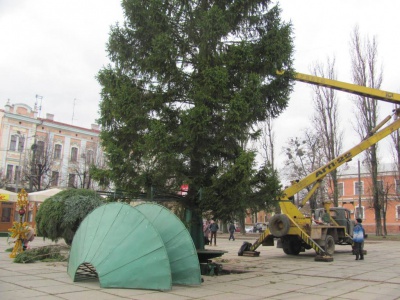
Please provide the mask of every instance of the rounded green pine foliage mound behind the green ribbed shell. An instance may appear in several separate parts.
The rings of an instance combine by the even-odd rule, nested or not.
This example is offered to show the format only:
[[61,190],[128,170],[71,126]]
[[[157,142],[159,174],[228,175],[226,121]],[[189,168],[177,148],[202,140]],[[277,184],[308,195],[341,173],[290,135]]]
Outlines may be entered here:
[[70,245],[83,219],[102,204],[104,199],[92,190],[62,191],[40,205],[36,215],[37,234],[52,241],[63,238]]

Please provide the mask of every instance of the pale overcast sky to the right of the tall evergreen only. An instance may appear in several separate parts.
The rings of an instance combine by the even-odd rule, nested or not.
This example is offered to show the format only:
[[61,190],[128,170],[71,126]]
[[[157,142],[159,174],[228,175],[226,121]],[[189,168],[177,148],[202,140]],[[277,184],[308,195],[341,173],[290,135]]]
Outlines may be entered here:
[[[362,37],[376,37],[379,63],[383,68],[381,89],[399,93],[398,53],[400,41],[397,33],[400,28],[400,2],[391,0],[281,0],[284,20],[294,26],[295,69],[310,73],[315,62],[326,62],[327,57],[336,58],[337,79],[351,82],[350,35],[355,26]],[[354,131],[353,96],[337,92],[341,113],[341,126],[344,130],[343,152],[355,146],[360,138]],[[282,162],[281,148],[289,137],[299,135],[310,126],[312,109],[312,87],[306,83],[296,83],[288,109],[276,120],[277,157]],[[380,102],[380,120],[388,115],[393,105]],[[380,142],[381,157],[388,158],[383,150],[389,146],[390,138]],[[362,159],[362,155],[357,157]],[[357,164],[357,160],[352,163]]]

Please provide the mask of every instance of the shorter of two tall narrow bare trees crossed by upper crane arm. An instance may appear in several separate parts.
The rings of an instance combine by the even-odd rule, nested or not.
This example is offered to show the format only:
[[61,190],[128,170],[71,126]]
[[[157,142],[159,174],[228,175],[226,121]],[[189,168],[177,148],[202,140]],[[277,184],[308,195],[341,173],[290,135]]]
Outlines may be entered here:
[[[312,73],[315,76],[336,80],[335,58],[327,59],[326,66],[316,63]],[[336,91],[334,89],[324,88],[314,85],[314,109],[315,113],[312,119],[314,128],[319,132],[320,145],[324,153],[324,161],[328,162],[340,155],[343,144],[343,132],[339,129],[339,112]],[[331,190],[333,194],[334,206],[339,206],[338,193],[338,171],[333,170],[329,176]]]

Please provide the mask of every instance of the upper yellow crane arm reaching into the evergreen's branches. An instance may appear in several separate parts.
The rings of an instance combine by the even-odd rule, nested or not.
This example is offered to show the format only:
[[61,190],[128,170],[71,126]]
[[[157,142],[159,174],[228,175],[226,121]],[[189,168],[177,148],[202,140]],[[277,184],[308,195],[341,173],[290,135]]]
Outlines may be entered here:
[[[277,72],[278,75],[281,75],[282,72]],[[332,88],[339,91],[348,92],[351,94],[365,96],[369,98],[373,98],[376,100],[383,100],[386,102],[400,104],[400,94],[382,91],[366,86],[361,86],[357,84],[342,82],[338,80],[318,77],[314,75],[307,75],[303,73],[296,73],[295,79],[297,81],[306,82],[318,86],[324,86],[328,88]]]

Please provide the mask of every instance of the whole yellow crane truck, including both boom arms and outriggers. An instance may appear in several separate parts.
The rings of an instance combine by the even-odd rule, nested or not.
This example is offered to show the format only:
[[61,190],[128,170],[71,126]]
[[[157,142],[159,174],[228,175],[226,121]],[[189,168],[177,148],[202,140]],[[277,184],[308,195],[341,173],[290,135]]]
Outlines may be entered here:
[[[277,72],[277,74],[282,75],[282,72]],[[400,95],[395,93],[301,73],[295,74],[295,79],[318,86],[400,104]],[[391,124],[382,128],[392,118],[392,116],[387,116],[370,131],[369,136],[361,141],[361,143],[318,168],[302,180],[292,182],[292,185],[282,192],[283,196],[277,199],[281,213],[271,217],[268,228],[260,234],[259,238],[253,244],[244,242],[238,255],[258,256],[259,252],[256,249],[260,245],[274,246],[274,240],[277,239],[277,247],[282,248],[286,254],[298,255],[307,249],[314,249],[317,254],[315,260],[332,261],[336,244],[351,245],[354,221],[351,220],[349,210],[342,207],[331,207],[330,202],[325,202],[323,208],[316,210],[317,219],[322,219],[322,222],[318,222],[312,216],[304,214],[301,207],[316,192],[326,175],[398,130],[400,128],[400,118],[398,118],[400,110],[395,110],[393,115],[395,116],[395,121]],[[293,197],[310,186],[312,187],[308,194],[299,207],[297,207],[294,201],[292,201]]]

